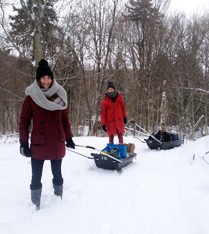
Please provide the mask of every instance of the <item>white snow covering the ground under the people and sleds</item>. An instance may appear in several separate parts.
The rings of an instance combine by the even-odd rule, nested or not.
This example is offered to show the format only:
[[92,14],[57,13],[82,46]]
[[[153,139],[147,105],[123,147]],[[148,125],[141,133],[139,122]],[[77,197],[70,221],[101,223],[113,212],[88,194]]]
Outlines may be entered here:
[[[106,137],[74,137],[79,145],[105,147]],[[208,234],[209,137],[157,151],[131,137],[136,160],[122,172],[66,152],[64,194],[53,195],[49,161],[43,170],[41,209],[30,202],[30,159],[14,140],[0,143],[2,234]],[[117,141],[116,141],[117,143]],[[76,147],[87,156],[91,149]],[[193,160],[193,156],[195,159]]]

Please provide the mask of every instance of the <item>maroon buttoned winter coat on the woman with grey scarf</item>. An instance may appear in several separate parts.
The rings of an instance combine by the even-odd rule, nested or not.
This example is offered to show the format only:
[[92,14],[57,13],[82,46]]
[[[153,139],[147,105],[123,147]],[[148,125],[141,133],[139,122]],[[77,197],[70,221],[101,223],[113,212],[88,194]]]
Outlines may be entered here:
[[68,110],[43,109],[30,96],[27,96],[20,115],[20,143],[29,139],[31,119],[33,120],[30,146],[32,157],[39,160],[63,158],[65,139],[72,137]]

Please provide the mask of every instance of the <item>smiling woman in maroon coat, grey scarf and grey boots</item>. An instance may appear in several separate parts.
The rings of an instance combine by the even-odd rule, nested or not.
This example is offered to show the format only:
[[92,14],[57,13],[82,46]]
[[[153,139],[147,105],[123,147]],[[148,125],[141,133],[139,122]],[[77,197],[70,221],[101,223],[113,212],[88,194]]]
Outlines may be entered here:
[[19,123],[20,153],[31,157],[31,201],[39,209],[44,161],[51,160],[54,194],[62,198],[61,163],[65,156],[65,141],[66,147],[75,148],[75,144],[68,119],[66,91],[54,79],[46,60],[39,62],[36,80],[26,88],[25,93]]

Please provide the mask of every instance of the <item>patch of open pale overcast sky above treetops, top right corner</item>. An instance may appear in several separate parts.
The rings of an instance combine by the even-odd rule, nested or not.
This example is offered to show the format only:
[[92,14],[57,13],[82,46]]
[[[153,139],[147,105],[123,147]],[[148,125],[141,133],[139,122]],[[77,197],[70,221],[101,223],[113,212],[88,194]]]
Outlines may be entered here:
[[209,13],[209,0],[170,0],[172,12],[184,12],[187,16]]

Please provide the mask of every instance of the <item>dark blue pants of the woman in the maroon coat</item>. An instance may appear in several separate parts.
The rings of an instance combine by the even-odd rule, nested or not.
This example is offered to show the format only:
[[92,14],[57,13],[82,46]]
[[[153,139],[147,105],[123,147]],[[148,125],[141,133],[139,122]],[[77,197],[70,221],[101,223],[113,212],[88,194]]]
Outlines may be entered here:
[[[63,184],[61,164],[62,164],[62,159],[51,160],[51,170],[53,174],[52,182],[55,185]],[[31,190],[42,188],[41,177],[42,177],[43,165],[44,165],[44,160],[31,158],[31,167],[32,167],[32,180],[30,185]]]

